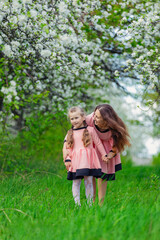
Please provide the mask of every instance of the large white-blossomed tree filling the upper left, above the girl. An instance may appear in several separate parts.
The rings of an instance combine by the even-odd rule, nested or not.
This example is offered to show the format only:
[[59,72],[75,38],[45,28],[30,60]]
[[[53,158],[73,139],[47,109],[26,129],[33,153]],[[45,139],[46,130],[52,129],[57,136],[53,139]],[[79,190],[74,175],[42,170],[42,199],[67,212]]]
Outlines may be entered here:
[[0,14],[3,116],[62,108],[80,100],[86,86],[105,84],[101,62],[109,54],[86,34],[94,28],[109,35],[100,1],[3,0]]

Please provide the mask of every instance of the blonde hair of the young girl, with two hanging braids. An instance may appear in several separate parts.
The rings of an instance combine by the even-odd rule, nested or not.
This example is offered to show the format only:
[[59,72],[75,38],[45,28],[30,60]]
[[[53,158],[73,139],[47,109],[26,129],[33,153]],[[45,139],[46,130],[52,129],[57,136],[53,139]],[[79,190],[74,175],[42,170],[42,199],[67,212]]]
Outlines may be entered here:
[[[70,116],[70,113],[77,112],[77,111],[80,112],[80,115],[82,117],[85,116],[84,110],[81,107],[75,106],[75,107],[71,107],[68,110],[68,117]],[[87,127],[86,121],[84,121],[84,126]],[[91,143],[91,136],[87,128],[85,128],[83,131],[82,141],[85,147],[87,147]],[[73,129],[70,129],[67,133],[67,148],[73,148],[73,145],[74,145]]]

